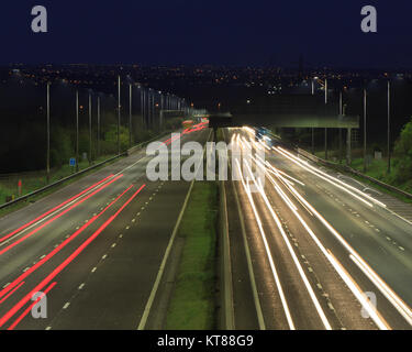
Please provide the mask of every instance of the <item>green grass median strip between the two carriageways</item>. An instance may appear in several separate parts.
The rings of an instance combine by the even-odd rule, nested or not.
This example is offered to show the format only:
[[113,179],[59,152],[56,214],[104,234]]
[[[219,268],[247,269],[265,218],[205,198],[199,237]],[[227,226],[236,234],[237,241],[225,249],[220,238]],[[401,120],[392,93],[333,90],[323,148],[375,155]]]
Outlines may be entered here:
[[166,329],[215,328],[219,185],[196,182],[178,237],[185,240]]

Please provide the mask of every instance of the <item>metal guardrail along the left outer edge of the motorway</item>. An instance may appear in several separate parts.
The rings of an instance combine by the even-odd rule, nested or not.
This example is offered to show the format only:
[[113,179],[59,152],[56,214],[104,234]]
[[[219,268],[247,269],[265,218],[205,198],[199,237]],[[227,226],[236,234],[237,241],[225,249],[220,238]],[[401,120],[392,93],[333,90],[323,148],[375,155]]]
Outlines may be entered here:
[[88,172],[90,172],[90,170],[92,170],[92,169],[94,169],[94,168],[98,168],[98,167],[100,167],[100,166],[102,166],[102,165],[104,165],[104,164],[107,164],[107,163],[110,163],[110,162],[112,162],[112,161],[114,161],[114,160],[116,160],[116,158],[119,158],[119,157],[121,157],[121,156],[129,156],[129,155],[131,155],[131,154],[137,152],[138,150],[141,150],[142,147],[144,147],[145,145],[147,145],[148,143],[151,143],[151,142],[155,141],[155,140],[158,140],[158,139],[160,139],[162,136],[164,136],[164,135],[166,135],[166,134],[168,134],[168,133],[170,133],[170,131],[164,132],[164,133],[162,133],[162,134],[159,134],[159,135],[153,138],[152,140],[148,140],[148,141],[143,142],[143,143],[140,143],[140,144],[137,144],[137,145],[135,145],[135,146],[132,146],[132,147],[129,148],[126,152],[121,153],[121,154],[119,154],[119,155],[115,155],[115,156],[113,156],[113,157],[111,157],[111,158],[108,158],[108,160],[105,160],[105,161],[103,161],[103,162],[101,162],[101,163],[99,163],[99,164],[92,165],[92,166],[90,166],[90,167],[88,167],[88,168],[85,168],[85,169],[82,169],[82,170],[80,170],[80,172],[78,172],[78,173],[75,173],[75,174],[73,174],[73,175],[70,175],[70,176],[64,177],[64,178],[62,178],[62,179],[59,179],[59,180],[57,180],[57,182],[55,182],[55,183],[53,183],[53,184],[51,184],[51,185],[44,186],[44,187],[38,188],[38,189],[36,189],[36,190],[34,190],[34,191],[32,191],[32,193],[30,193],[30,194],[26,194],[26,195],[24,195],[24,196],[22,196],[22,197],[19,197],[19,198],[16,198],[16,199],[14,199],[14,200],[11,200],[11,201],[8,201],[8,202],[5,202],[5,204],[3,204],[3,205],[0,205],[0,210],[1,210],[1,209],[4,209],[4,208],[8,208],[8,207],[11,207],[11,206],[13,206],[13,205],[16,205],[18,202],[21,202],[21,201],[27,200],[29,198],[31,198],[31,197],[33,197],[33,196],[40,195],[40,194],[42,194],[42,193],[44,193],[44,191],[46,191],[46,190],[49,190],[49,189],[52,189],[52,188],[54,188],[54,187],[56,187],[56,186],[59,186],[59,185],[64,184],[65,182],[68,182],[68,180],[73,179],[73,178],[75,178],[75,177],[77,177],[77,176],[80,176],[80,175],[82,175],[82,174],[86,174],[86,173],[88,173]]

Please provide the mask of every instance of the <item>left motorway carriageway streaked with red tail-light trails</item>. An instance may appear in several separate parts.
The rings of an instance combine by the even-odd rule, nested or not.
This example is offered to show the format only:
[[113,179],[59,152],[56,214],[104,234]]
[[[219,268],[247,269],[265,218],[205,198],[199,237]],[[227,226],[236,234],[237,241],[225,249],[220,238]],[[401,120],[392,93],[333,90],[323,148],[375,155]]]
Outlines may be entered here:
[[[141,150],[0,219],[1,330],[137,329],[189,189],[148,182],[152,158]],[[47,318],[31,314],[37,292]]]

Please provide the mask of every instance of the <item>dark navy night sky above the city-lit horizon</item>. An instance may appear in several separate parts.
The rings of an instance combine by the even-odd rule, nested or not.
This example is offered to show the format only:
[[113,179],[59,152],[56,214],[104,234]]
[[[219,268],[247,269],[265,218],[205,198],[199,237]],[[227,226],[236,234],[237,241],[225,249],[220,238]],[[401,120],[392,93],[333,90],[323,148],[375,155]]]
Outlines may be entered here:
[[[45,6],[48,33],[31,9]],[[360,31],[376,6],[378,33]],[[412,68],[410,0],[2,0],[0,64],[225,64]]]

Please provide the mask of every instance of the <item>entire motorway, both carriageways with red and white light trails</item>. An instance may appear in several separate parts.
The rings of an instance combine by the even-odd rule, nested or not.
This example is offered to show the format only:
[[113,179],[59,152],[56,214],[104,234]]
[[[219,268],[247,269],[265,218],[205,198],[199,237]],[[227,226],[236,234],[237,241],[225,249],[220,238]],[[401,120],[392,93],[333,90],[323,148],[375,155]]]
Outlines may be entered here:
[[[412,224],[252,129],[224,134],[259,151],[225,183],[235,328],[411,329]],[[149,182],[152,158],[141,150],[0,219],[0,329],[147,328],[190,185]],[[31,314],[36,292],[47,318]]]

